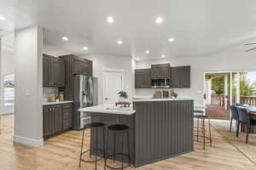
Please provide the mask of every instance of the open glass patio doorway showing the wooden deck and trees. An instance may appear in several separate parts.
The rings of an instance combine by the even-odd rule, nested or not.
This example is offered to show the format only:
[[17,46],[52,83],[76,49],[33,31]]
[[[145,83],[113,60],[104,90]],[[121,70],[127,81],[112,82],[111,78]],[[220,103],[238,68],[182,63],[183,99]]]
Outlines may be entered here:
[[207,72],[205,74],[206,115],[230,119],[229,105],[256,105],[256,71]]

